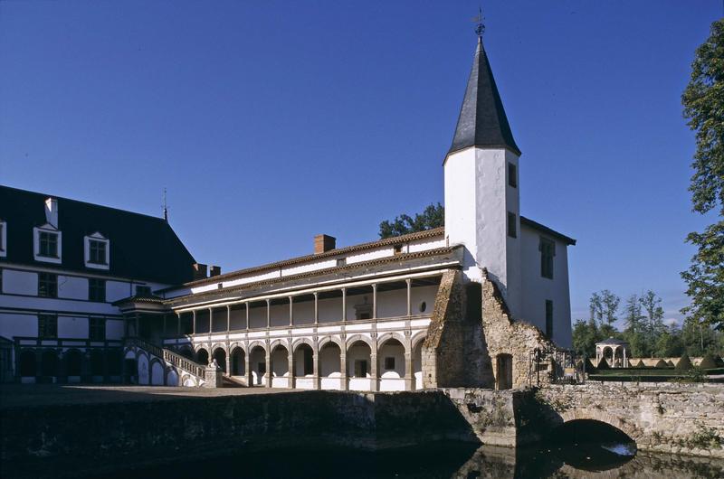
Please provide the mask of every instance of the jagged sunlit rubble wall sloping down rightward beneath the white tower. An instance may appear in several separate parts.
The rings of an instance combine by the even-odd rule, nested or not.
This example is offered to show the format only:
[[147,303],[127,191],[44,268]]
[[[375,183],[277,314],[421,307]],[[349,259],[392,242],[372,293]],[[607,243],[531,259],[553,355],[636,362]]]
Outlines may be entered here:
[[[555,344],[534,325],[513,321],[508,307],[500,295],[497,285],[488,277],[488,272],[482,271],[482,332],[485,350],[490,357],[491,374],[495,379],[495,387],[500,388],[501,379],[498,377],[499,354],[512,356],[512,387],[525,388],[535,385],[540,378],[541,383],[548,382],[548,371],[551,366],[547,360],[540,366],[531,364],[531,352],[536,348],[543,351],[552,351]],[[545,364],[546,371],[536,375],[536,367]]]

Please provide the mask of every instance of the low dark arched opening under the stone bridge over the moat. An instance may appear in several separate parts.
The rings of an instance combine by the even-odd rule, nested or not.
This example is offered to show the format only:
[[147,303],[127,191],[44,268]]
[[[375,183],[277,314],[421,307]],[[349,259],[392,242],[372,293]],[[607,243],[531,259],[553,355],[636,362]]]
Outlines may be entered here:
[[586,471],[605,471],[628,462],[636,444],[618,427],[595,419],[575,419],[554,429],[551,452],[567,465]]

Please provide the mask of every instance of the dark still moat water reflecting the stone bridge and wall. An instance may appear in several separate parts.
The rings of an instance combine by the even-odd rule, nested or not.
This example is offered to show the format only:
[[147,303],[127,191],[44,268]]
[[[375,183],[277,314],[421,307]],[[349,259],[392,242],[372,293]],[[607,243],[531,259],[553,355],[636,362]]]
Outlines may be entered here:
[[635,452],[627,444],[537,446],[514,451],[468,443],[439,443],[377,452],[304,448],[243,453],[117,469],[78,477],[128,479],[475,479],[535,477],[724,477],[724,461]]

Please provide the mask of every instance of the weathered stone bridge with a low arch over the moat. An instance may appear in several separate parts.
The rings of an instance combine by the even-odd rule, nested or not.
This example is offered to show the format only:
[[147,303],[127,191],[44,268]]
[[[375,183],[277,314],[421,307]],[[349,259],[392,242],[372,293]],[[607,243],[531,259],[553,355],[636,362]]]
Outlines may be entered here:
[[546,386],[535,399],[547,423],[542,430],[592,419],[620,429],[639,449],[724,458],[724,385]]

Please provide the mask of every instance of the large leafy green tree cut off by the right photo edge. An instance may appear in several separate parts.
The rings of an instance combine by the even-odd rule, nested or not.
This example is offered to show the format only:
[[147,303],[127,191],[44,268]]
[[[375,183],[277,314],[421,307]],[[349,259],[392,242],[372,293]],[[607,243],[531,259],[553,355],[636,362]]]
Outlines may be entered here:
[[684,117],[696,133],[691,164],[693,211],[719,210],[719,221],[687,241],[697,248],[691,267],[681,273],[691,305],[690,319],[724,329],[724,19],[711,24],[710,37],[696,51],[691,80],[681,96]]

